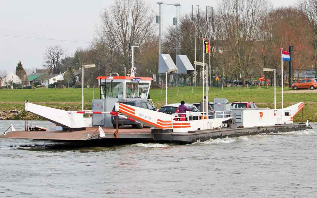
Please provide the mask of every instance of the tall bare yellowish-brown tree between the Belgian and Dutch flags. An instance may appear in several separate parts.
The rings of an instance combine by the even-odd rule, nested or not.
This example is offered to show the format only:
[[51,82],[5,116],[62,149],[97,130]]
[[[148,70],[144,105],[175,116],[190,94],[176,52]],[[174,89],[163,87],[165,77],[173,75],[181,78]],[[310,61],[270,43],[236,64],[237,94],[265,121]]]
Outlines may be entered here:
[[243,85],[254,63],[254,47],[259,35],[258,23],[263,15],[263,0],[223,0],[219,14],[224,25],[225,54],[236,73],[241,73]]

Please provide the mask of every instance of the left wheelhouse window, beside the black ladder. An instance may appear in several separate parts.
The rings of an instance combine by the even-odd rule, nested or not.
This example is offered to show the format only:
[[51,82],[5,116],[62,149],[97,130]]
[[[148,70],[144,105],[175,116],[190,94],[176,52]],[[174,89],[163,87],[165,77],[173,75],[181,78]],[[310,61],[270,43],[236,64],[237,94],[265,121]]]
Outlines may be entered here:
[[104,91],[106,98],[123,98],[123,83],[122,82],[101,82],[101,88]]

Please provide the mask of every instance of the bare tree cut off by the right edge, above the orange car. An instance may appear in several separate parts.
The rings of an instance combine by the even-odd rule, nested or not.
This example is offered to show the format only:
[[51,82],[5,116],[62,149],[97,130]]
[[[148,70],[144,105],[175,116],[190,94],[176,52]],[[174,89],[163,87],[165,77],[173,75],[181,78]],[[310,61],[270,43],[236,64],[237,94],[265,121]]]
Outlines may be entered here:
[[303,0],[300,3],[300,9],[305,14],[307,21],[313,33],[312,44],[314,46],[314,61],[315,61],[315,77],[317,78],[317,1]]

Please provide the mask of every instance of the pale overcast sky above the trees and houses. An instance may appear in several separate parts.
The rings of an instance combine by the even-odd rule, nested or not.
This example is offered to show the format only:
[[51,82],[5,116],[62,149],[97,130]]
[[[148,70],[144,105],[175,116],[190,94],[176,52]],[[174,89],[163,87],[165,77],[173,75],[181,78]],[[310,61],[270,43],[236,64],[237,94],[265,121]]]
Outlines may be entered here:
[[[292,5],[298,0],[270,0],[274,7]],[[151,0],[156,13],[158,0]],[[208,2],[212,2],[208,4]],[[191,12],[191,4],[216,6],[217,1],[169,0],[164,3],[181,3],[181,13]],[[24,68],[42,68],[43,56],[49,45],[61,45],[67,55],[73,55],[76,48],[86,48],[95,36],[100,24],[100,11],[112,4],[112,0],[1,0],[0,4],[0,70],[15,70],[22,61]],[[172,23],[176,16],[174,6],[164,6],[164,23]],[[11,36],[8,36],[11,35]],[[21,37],[15,37],[21,36]],[[31,39],[49,38],[66,41]],[[0,73],[1,75],[1,73]]]

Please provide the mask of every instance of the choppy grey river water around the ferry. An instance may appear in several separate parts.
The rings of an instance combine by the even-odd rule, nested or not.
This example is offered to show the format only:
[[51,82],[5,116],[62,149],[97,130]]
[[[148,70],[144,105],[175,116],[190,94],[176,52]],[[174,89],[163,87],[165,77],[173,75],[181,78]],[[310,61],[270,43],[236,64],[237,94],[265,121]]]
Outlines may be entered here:
[[[54,129],[48,121],[32,121]],[[0,120],[0,132],[23,121]],[[0,138],[0,197],[317,197],[317,125],[187,145]],[[306,135],[306,136],[303,136]]]

